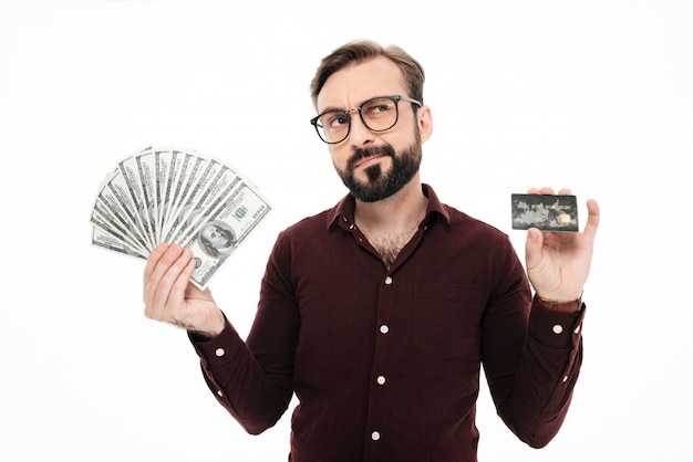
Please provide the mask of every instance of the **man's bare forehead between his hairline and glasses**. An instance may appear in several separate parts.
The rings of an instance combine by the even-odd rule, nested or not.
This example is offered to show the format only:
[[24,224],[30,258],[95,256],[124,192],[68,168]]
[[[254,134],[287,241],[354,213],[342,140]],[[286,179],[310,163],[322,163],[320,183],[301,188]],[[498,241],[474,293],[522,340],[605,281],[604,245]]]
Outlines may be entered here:
[[374,96],[407,93],[402,70],[389,59],[377,56],[330,75],[318,95],[318,112],[355,107]]

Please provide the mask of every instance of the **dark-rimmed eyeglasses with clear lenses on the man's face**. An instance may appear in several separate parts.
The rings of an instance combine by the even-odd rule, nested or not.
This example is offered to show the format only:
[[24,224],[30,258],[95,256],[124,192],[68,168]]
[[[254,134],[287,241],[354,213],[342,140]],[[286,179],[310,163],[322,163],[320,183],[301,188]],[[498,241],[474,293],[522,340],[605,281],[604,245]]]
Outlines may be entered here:
[[316,127],[318,136],[329,145],[342,143],[351,130],[351,113],[359,112],[363,125],[371,132],[385,132],[394,127],[400,118],[399,103],[407,103],[421,106],[416,99],[402,95],[377,96],[371,98],[353,109],[331,109],[325,111],[317,117],[310,119]]

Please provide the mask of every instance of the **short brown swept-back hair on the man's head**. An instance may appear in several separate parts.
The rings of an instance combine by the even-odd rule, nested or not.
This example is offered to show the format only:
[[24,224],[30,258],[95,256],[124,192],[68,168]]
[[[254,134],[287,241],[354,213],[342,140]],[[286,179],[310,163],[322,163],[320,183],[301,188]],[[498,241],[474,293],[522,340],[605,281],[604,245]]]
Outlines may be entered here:
[[425,74],[418,61],[396,45],[382,46],[370,40],[356,40],[338,48],[322,59],[318,71],[316,71],[316,76],[310,83],[310,96],[313,106],[317,107],[318,95],[330,75],[350,64],[362,63],[377,56],[384,56],[400,66],[408,85],[410,94],[405,96],[418,99],[423,104]]

